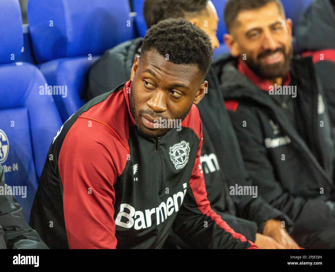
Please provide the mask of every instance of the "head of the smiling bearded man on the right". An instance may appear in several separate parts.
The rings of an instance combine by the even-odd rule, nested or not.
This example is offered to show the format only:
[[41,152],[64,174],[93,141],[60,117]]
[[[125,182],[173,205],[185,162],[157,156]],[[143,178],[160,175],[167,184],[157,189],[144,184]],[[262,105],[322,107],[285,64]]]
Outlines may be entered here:
[[261,78],[273,82],[289,72],[293,57],[292,21],[280,0],[228,0],[224,41],[234,57]]

